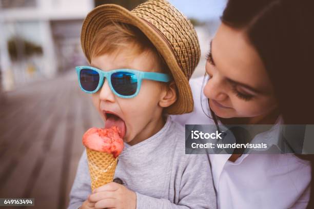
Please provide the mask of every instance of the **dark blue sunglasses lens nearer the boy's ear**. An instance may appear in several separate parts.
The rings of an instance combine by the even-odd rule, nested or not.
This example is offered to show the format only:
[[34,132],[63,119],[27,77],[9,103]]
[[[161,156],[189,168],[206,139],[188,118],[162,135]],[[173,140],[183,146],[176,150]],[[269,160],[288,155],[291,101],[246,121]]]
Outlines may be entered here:
[[111,75],[111,84],[118,94],[131,96],[138,88],[138,78],[133,73],[117,72]]

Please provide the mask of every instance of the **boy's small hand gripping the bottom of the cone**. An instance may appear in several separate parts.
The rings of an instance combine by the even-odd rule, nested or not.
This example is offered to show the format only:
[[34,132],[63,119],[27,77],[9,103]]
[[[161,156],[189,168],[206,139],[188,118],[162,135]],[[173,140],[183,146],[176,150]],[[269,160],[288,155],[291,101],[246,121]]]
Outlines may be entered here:
[[98,187],[88,198],[94,208],[135,209],[136,194],[124,185],[110,182]]

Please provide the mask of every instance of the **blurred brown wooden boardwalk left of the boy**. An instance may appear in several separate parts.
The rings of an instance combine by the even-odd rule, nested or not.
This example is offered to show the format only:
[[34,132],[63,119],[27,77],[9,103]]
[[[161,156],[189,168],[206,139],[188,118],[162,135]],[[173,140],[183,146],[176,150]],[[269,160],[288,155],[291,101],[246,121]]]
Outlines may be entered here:
[[8,93],[0,105],[0,198],[66,208],[90,127],[103,121],[73,72]]

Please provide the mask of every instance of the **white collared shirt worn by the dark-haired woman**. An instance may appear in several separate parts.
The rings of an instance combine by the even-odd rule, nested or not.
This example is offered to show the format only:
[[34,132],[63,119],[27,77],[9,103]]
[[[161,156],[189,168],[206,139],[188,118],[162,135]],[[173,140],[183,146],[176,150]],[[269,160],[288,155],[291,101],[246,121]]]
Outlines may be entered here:
[[[202,83],[203,77],[190,79],[194,111],[171,116],[182,125],[214,124],[201,107],[202,102],[205,112],[210,114]],[[282,122],[282,118],[279,117],[276,124]],[[265,140],[265,136],[277,132],[278,130],[274,128],[256,135],[253,140]],[[311,180],[308,161],[292,154],[245,154],[235,162],[228,160],[230,156],[230,154],[209,156],[218,208],[306,208]]]

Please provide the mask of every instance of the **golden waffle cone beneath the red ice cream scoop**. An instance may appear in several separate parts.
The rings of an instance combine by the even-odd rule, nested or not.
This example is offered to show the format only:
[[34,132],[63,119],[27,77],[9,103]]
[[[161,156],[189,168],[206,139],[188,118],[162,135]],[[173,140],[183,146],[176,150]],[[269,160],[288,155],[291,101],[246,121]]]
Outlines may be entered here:
[[117,157],[112,154],[86,148],[91,179],[91,190],[113,180]]

